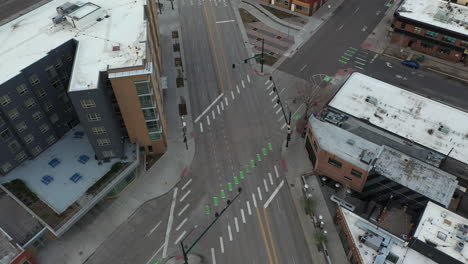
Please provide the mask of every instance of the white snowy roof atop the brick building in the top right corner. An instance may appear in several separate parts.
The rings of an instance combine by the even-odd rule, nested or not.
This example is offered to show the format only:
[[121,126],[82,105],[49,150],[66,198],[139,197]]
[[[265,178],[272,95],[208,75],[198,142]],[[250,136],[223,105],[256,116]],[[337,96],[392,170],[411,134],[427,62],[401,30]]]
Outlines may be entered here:
[[397,12],[408,19],[468,35],[468,7],[442,0],[405,0]]

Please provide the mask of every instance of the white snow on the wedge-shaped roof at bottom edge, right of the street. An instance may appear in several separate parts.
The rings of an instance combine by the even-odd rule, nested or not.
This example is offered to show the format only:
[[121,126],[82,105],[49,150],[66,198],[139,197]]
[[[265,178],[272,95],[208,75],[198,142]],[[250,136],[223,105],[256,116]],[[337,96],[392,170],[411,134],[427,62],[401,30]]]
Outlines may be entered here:
[[[365,232],[367,231],[363,229],[363,226],[368,226],[371,229],[375,228],[376,230],[379,230],[381,234],[383,234],[387,238],[391,238],[392,241],[396,242],[391,243],[391,245],[388,247],[391,253],[398,256],[398,261],[395,264],[437,264],[431,259],[420,254],[419,252],[408,248],[406,244],[403,244],[403,241],[401,239],[392,235],[386,230],[377,227],[376,225],[352,213],[351,211],[348,211],[345,208],[340,207],[340,210],[343,213],[344,220],[346,221],[346,225],[351,233],[353,243],[356,245],[359,255],[361,256],[364,263],[377,263],[374,262],[374,260],[375,257],[378,255],[377,251],[375,251],[373,248],[359,241],[359,237],[364,236]],[[358,224],[358,222],[360,223]],[[388,260],[383,263],[393,264],[393,262],[390,262]]]

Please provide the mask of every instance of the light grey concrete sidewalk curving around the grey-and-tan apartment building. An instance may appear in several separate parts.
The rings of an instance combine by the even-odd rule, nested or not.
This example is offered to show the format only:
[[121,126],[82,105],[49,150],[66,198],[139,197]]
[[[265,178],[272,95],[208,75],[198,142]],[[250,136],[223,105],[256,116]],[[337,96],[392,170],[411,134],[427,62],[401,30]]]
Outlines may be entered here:
[[[177,9],[166,8],[163,10],[159,22],[164,70],[161,75],[167,77],[168,83],[164,99],[168,149],[146,173],[140,174],[119,197],[101,201],[63,237],[55,241],[48,241],[38,253],[38,261],[41,264],[81,264],[85,262],[118,226],[125,224],[144,202],[170,191],[179,182],[184,169],[192,162],[195,150],[194,140],[190,136],[191,131],[193,131],[190,120],[190,105],[187,106],[189,116],[186,118],[188,151],[182,140],[181,119],[177,105],[180,96],[184,96],[189,103],[188,91],[187,87],[176,88],[175,86],[177,73],[174,66],[172,41],[170,40],[172,38],[171,32],[180,28]],[[179,42],[182,41],[179,39]]]

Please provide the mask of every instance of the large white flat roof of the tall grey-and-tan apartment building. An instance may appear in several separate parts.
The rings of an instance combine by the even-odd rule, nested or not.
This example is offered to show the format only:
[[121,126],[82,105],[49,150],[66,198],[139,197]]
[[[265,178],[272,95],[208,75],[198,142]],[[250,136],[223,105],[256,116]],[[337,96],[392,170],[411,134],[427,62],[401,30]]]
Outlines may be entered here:
[[[57,25],[52,21],[58,15],[56,8],[66,2],[83,8],[74,12],[75,26],[71,16]],[[142,65],[147,40],[145,3],[54,0],[0,26],[0,61],[8,61],[0,71],[0,84],[70,39],[78,41],[70,91],[97,88],[99,72],[108,68]]]

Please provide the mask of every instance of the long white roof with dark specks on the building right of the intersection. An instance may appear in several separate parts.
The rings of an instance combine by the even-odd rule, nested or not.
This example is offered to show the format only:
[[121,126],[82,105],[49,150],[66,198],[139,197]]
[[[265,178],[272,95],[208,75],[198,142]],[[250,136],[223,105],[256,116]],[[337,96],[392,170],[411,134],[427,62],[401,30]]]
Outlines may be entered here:
[[353,73],[329,106],[468,164],[468,113]]

